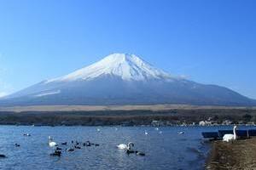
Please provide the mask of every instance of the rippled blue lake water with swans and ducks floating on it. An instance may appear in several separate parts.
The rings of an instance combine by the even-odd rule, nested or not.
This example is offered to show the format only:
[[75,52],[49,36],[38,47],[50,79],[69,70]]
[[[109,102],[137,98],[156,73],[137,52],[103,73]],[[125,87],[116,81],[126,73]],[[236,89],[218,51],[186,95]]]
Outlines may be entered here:
[[[227,127],[26,127],[0,126],[0,159],[4,169],[204,169],[211,144],[201,132]],[[230,127],[229,127],[230,128]],[[100,129],[100,131],[97,131]],[[148,132],[148,135],[145,134]],[[179,134],[178,132],[184,132]],[[23,136],[31,133],[31,136]],[[51,136],[58,144],[67,142],[61,157],[49,156]],[[100,144],[65,151],[71,141]],[[127,155],[116,145],[133,142],[146,156]],[[15,147],[15,143],[20,147]]]

